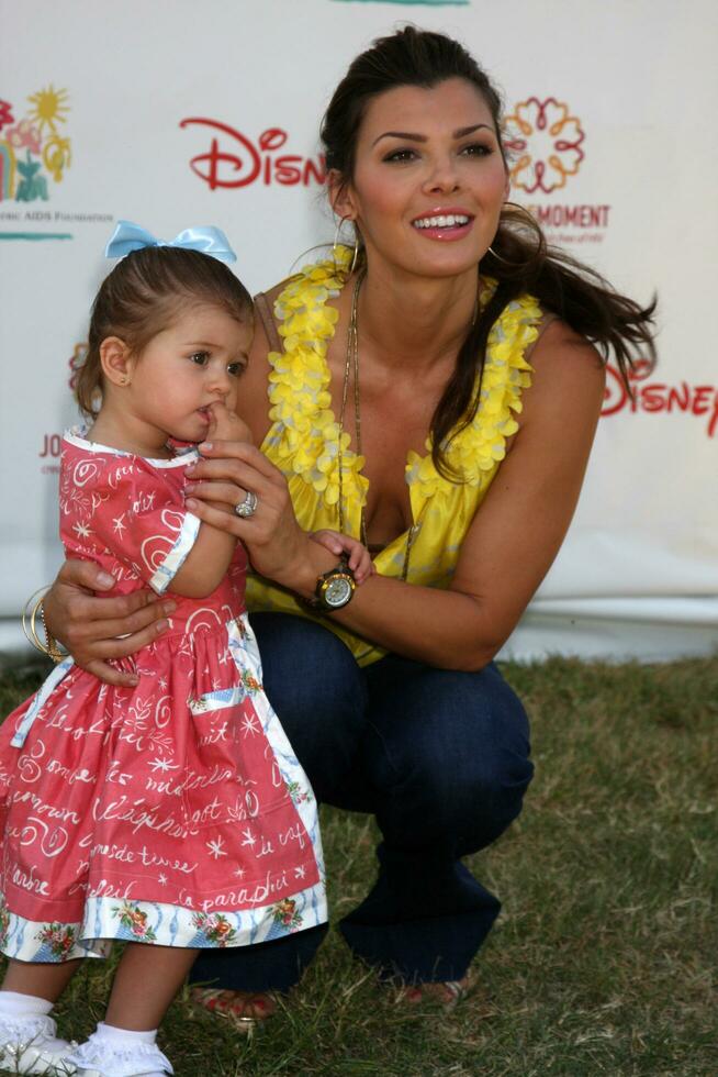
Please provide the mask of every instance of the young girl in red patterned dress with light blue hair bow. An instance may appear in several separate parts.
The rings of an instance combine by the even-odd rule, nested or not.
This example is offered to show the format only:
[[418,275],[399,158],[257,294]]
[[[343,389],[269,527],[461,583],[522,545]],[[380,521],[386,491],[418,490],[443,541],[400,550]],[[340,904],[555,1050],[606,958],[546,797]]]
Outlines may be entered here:
[[[251,300],[215,229],[165,245],[121,222],[108,255],[126,257],[92,309],[77,397],[94,421],[64,440],[60,536],[115,593],[149,585],[176,609],[124,659],[134,688],[67,657],[0,729],[0,1068],[24,1074],[171,1073],[156,1030],[199,947],[326,919],[316,804],[262,691],[244,548],[182,497],[193,444],[246,436]],[[248,491],[236,511],[256,509]],[[368,555],[341,542],[361,580]],[[53,1003],[114,939],[105,1022],[70,1046]]]

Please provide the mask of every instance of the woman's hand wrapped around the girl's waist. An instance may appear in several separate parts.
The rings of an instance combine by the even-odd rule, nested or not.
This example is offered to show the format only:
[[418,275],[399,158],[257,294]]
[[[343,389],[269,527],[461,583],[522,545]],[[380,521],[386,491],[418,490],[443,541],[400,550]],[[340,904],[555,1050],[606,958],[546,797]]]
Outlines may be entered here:
[[78,666],[106,685],[131,688],[138,682],[137,675],[115,669],[110,659],[125,658],[161,635],[168,626],[165,615],[176,603],[160,601],[152,591],[97,597],[96,592],[106,593],[114,585],[114,578],[93,562],[66,560],[43,599],[45,621]]

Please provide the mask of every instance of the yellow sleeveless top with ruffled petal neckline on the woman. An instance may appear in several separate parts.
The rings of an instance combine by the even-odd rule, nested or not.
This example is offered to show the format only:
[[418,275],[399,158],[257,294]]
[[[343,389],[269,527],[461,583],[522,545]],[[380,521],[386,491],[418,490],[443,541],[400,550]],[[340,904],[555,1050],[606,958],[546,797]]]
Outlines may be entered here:
[[[274,303],[284,352],[269,354],[272,425],[261,447],[287,476],[296,519],[306,531],[339,529],[339,424],[332,410],[326,362],[338,313],[327,300],[344,287],[351,252],[339,247],[336,262],[306,266]],[[494,288],[495,281],[483,281],[482,303]],[[452,482],[437,471],[430,437],[425,456],[408,453],[406,481],[414,526],[374,557],[382,576],[402,578],[405,574],[411,584],[449,585],[463,537],[506,455],[506,438],[518,430],[515,417],[521,411],[521,391],[531,384],[531,367],[524,353],[538,336],[541,317],[537,300],[521,296],[507,304],[492,326],[479,407],[469,425],[449,438],[446,452],[463,481]],[[351,449],[349,434],[341,438],[345,528],[359,535],[369,482],[361,474],[364,459]],[[250,611],[313,615],[290,592],[258,576],[247,580],[247,606]],[[322,623],[345,641],[360,665],[385,654],[340,629],[330,617],[322,618]]]

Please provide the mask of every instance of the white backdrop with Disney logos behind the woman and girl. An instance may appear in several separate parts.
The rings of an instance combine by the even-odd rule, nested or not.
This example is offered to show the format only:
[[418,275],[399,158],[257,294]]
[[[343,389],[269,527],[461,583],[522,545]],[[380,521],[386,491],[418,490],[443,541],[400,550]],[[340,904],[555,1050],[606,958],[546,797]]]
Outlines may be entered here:
[[718,643],[713,0],[0,0],[0,646],[61,559],[58,435],[114,221],[165,238],[216,224],[250,289],[287,276],[333,234],[332,90],[406,21],[460,37],[497,80],[515,200],[617,287],[660,297],[658,366],[636,403],[609,377],[570,536],[505,653]]

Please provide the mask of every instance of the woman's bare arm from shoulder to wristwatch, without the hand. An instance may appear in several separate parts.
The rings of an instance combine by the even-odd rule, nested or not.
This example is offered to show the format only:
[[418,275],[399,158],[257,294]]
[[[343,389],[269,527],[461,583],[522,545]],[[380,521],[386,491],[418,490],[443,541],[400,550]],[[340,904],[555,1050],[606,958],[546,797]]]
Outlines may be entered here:
[[[597,353],[560,323],[547,329],[531,363],[520,431],[469,529],[449,589],[372,578],[337,618],[352,631],[458,669],[481,668],[506,642],[565,537],[604,395]],[[381,623],[369,609],[372,597],[391,611]]]

